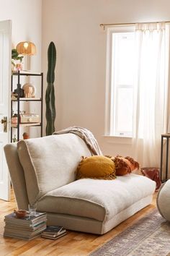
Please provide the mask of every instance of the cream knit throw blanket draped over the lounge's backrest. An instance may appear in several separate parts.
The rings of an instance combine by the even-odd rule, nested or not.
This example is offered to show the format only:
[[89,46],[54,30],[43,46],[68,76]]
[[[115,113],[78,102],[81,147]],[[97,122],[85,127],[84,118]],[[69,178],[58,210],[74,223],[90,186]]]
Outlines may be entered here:
[[76,126],[68,127],[66,129],[62,129],[61,131],[53,132],[53,135],[63,135],[64,133],[73,133],[74,135],[81,137],[89,148],[91,155],[102,155],[99,144],[89,129]]

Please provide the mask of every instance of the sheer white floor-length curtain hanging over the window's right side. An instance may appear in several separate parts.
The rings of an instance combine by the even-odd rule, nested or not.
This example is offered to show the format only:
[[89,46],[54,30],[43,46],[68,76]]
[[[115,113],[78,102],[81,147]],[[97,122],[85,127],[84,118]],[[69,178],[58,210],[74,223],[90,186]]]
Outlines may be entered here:
[[167,120],[169,25],[137,24],[135,35],[133,156],[141,167],[159,167]]

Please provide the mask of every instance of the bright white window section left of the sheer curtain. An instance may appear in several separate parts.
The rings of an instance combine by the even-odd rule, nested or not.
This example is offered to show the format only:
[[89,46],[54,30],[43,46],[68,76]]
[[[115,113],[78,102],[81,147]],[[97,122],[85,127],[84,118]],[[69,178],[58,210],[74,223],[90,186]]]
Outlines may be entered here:
[[132,137],[135,27],[107,30],[106,134]]

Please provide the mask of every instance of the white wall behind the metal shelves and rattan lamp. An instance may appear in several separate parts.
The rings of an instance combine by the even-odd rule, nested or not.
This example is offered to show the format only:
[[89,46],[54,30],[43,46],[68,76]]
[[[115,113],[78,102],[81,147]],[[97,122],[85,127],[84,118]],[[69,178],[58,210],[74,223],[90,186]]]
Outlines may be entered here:
[[[35,43],[37,54],[30,56],[30,67],[35,72],[41,71],[42,1],[0,0],[0,7],[0,20],[12,20],[12,48],[15,48],[17,43],[24,40],[30,40]],[[34,83],[36,80],[31,78],[31,81]],[[24,82],[23,80],[22,85]],[[23,109],[25,108],[29,109],[27,103]],[[35,103],[30,109],[32,109],[33,113],[36,113],[36,108],[37,105]],[[23,132],[21,131],[21,134]],[[35,128],[30,128],[29,132],[31,136],[40,136],[40,130],[38,131]]]

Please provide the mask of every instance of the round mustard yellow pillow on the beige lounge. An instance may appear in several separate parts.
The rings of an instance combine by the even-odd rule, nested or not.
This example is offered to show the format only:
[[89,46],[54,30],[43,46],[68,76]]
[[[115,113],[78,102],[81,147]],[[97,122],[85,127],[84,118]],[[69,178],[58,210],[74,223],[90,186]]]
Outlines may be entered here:
[[116,179],[115,163],[103,156],[82,157],[76,171],[76,179]]

